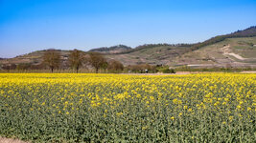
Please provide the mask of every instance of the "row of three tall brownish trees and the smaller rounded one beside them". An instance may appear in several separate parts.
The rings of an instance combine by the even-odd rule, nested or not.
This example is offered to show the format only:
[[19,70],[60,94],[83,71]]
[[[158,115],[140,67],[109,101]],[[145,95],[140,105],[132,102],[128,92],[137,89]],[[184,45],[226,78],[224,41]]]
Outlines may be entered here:
[[[55,69],[61,64],[60,52],[57,50],[48,50],[44,52],[43,64],[54,72]],[[116,60],[106,61],[104,55],[100,52],[88,52],[74,50],[71,51],[68,56],[68,65],[70,68],[79,72],[83,65],[90,65],[95,69],[95,72],[99,72],[100,69],[108,69],[110,71],[123,71],[124,66],[122,63]]]

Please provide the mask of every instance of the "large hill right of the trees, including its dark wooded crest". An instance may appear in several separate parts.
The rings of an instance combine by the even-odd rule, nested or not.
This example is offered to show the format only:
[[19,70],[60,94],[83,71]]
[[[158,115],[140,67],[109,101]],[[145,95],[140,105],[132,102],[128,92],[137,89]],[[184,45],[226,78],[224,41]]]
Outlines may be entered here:
[[[235,31],[230,34],[216,36],[202,43],[177,45],[149,44],[138,46],[135,49],[118,54],[106,54],[106,57],[117,59],[125,65],[148,63],[174,67],[192,64],[208,64],[201,65],[207,67],[225,67],[226,65],[234,67],[254,66],[253,55],[256,55],[254,54],[255,36],[256,27],[250,27],[244,31]],[[221,48],[224,45],[228,48],[226,48],[223,55]],[[247,45],[248,47],[242,49],[241,47],[244,47],[244,45]],[[241,49],[238,51],[238,48]],[[203,52],[207,56],[204,55],[200,57],[200,55],[198,56],[198,52]],[[216,54],[215,52],[218,52],[219,54]],[[249,58],[241,60],[242,58],[238,59],[239,56],[234,53],[237,53],[239,56],[242,54],[241,57],[248,56]],[[225,60],[220,59],[222,56],[224,56]],[[210,59],[208,57],[210,57]]]

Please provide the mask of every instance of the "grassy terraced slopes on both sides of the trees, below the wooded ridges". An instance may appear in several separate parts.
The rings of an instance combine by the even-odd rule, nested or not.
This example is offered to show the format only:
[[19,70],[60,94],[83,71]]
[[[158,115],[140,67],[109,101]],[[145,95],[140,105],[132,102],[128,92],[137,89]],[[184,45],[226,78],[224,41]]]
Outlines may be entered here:
[[[224,45],[229,46],[228,52],[236,53],[247,59],[240,60],[232,55],[224,55]],[[141,63],[152,65],[168,64],[170,66],[191,64],[214,64],[219,66],[225,66],[227,64],[240,66],[246,64],[256,65],[256,46],[254,45],[256,45],[256,37],[228,38],[224,41],[202,47],[197,51],[190,51],[188,47],[158,46],[123,54],[105,54],[105,57],[119,60],[124,65]],[[8,60],[0,60],[0,63],[39,64],[42,61],[43,52],[35,51]],[[68,53],[69,51],[61,51],[62,59],[67,58]]]

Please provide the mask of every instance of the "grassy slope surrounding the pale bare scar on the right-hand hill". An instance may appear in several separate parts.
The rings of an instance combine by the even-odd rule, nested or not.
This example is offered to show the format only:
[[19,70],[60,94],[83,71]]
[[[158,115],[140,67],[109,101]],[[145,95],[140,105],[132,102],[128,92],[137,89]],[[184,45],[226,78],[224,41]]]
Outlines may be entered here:
[[[213,45],[191,51],[175,59],[176,65],[185,64],[255,64],[256,63],[256,37],[228,38]],[[235,56],[223,54],[226,47],[228,53],[238,54],[246,59],[241,60]],[[172,64],[170,64],[172,65]]]

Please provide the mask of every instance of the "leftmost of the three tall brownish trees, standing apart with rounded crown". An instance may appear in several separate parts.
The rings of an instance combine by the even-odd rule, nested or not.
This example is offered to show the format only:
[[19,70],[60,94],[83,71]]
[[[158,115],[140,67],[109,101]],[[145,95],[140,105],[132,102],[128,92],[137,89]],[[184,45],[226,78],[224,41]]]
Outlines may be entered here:
[[59,67],[60,53],[57,50],[47,50],[43,54],[43,63],[54,72],[54,69]]

